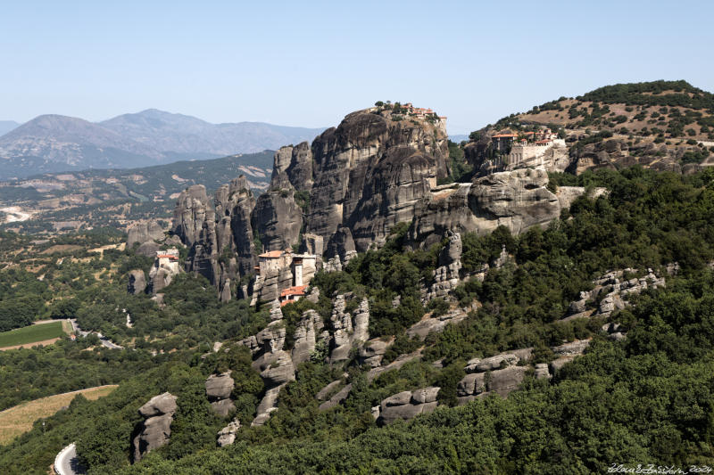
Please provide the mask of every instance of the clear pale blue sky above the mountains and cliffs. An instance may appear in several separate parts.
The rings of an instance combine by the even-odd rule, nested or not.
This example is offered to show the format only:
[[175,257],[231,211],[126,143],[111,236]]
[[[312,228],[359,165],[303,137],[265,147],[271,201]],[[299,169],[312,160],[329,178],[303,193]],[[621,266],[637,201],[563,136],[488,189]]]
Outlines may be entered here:
[[596,87],[714,92],[714,2],[0,0],[0,120],[149,108],[336,126],[413,102],[468,134]]

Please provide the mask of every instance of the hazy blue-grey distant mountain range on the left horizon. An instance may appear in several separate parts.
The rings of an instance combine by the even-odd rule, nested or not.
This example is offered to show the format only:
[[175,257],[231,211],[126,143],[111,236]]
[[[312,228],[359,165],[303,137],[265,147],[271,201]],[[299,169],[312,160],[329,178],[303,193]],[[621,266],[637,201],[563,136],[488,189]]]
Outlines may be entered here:
[[262,122],[211,124],[155,109],[98,123],[42,115],[22,125],[0,122],[0,179],[276,150],[311,141],[323,130]]

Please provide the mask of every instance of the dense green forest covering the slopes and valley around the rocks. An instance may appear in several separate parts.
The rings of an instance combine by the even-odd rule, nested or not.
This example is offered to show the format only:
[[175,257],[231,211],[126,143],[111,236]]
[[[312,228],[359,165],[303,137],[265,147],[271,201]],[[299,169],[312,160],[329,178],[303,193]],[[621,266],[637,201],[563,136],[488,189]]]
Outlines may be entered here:
[[[283,308],[287,348],[293,344],[290,328],[304,310],[327,319],[329,297],[350,292],[348,309],[369,299],[370,335],[394,339],[385,362],[417,349],[422,357],[369,381],[369,368],[356,357],[330,365],[314,355],[282,389],[278,411],[262,427],[250,427],[264,391],[250,353],[229,343],[227,352],[210,348],[214,341],[261,330],[268,321],[265,308],[221,304],[207,281],[187,274],[164,290],[165,307],[128,295],[129,270],[150,265],[133,250],[104,251],[102,257],[76,250],[73,257],[84,258],[76,261],[69,254],[26,256],[38,259],[36,273],[51,273],[52,279],[40,282],[29,271],[4,269],[0,285],[12,290],[8,301],[22,302],[24,294],[37,291],[45,301],[28,315],[73,315],[83,328],[130,349],[102,348],[90,337],[0,353],[0,409],[65,390],[120,384],[96,401],[76,397],[45,426],[37,422],[0,446],[0,471],[46,473],[72,441],[91,474],[551,474],[602,473],[613,463],[714,464],[714,170],[550,176],[553,191],[569,185],[607,192],[594,199],[586,193],[560,219],[518,236],[502,227],[461,236],[465,271],[493,263],[502,250],[509,258],[483,282],[461,283],[453,298],[473,308],[469,316],[426,341],[411,340],[405,330],[425,313],[449,308],[445,300],[424,307],[419,299],[445,241],[421,249],[408,240],[409,224],[397,225],[381,249],[358,255],[341,272],[317,274],[311,285],[320,289],[320,299]],[[9,250],[26,244],[10,234],[5,242]],[[60,256],[65,258],[58,266]],[[679,270],[669,275],[672,263]],[[592,289],[595,278],[626,268],[666,274],[667,286],[631,296],[628,307],[609,317],[562,320],[569,302]],[[123,309],[135,322],[132,328],[123,324]],[[608,339],[602,325],[610,322],[620,323],[627,338]],[[532,362],[548,363],[551,346],[586,338],[592,342],[585,354],[552,380],[529,375],[507,398],[456,405],[456,384],[470,358],[534,348]],[[228,421],[212,412],[204,381],[228,369],[236,381],[236,411],[229,418],[237,417],[242,428],[233,445],[217,448],[216,433]],[[320,411],[315,395],[343,373],[353,385],[349,396]],[[377,426],[371,407],[429,385],[442,388],[433,414]],[[132,465],[137,408],[164,391],[178,396],[170,443]]]

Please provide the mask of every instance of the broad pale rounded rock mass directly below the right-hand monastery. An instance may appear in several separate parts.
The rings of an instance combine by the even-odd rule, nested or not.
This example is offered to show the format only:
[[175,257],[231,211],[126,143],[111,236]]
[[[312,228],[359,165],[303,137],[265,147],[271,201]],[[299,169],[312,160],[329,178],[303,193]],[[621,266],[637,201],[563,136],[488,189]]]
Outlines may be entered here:
[[[503,225],[511,233],[522,233],[533,225],[546,225],[570,204],[550,192],[547,184],[545,170],[518,169],[430,195],[416,210],[409,241],[415,246],[429,246],[447,231],[482,234]],[[572,200],[576,193],[571,190],[568,196]]]

